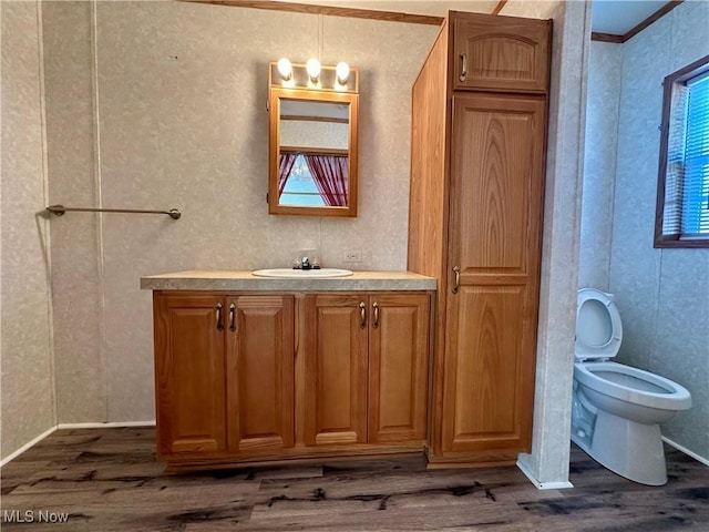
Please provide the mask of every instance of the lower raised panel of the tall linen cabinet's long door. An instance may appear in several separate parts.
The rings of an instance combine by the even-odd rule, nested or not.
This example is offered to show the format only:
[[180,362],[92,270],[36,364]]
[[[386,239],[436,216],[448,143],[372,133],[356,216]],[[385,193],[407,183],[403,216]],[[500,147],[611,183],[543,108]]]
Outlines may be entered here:
[[444,426],[445,450],[518,448],[531,408],[522,351],[528,346],[516,330],[524,323],[525,288],[464,286],[458,297],[451,340],[459,356],[448,360],[446,397],[455,411]]

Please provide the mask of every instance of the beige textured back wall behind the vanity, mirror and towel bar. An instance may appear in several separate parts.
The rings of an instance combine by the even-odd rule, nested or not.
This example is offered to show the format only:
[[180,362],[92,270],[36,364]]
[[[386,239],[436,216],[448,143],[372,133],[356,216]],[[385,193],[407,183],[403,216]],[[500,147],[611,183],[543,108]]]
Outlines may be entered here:
[[[154,419],[142,275],[327,266],[404,269],[410,91],[435,27],[182,2],[50,2],[53,203],[171,208],[52,221],[60,422]],[[359,216],[269,216],[267,65],[360,69]],[[54,245],[55,244],[55,245]]]

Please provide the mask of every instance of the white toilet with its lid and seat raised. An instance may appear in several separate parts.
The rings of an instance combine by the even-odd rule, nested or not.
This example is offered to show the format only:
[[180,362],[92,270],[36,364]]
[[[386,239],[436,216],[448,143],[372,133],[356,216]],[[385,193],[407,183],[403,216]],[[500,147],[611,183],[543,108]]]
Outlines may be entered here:
[[623,340],[612,294],[578,290],[572,441],[626,479],[667,482],[659,423],[691,408],[689,391],[649,371],[610,362]]

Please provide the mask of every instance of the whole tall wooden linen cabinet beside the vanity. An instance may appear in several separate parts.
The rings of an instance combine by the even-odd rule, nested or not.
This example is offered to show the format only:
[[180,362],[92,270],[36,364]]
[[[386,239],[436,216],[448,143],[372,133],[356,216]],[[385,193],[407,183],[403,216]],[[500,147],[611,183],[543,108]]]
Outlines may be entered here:
[[408,268],[439,283],[430,467],[531,449],[551,32],[451,11],[413,85]]

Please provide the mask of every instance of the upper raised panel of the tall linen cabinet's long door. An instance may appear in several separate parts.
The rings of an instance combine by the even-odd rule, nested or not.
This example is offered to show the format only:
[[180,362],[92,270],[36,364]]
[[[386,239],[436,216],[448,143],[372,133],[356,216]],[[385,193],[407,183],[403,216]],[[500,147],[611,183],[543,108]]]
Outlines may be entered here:
[[454,112],[456,264],[463,275],[526,276],[541,215],[544,102],[456,96]]

